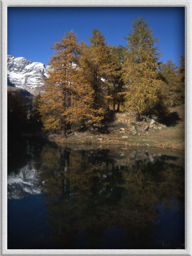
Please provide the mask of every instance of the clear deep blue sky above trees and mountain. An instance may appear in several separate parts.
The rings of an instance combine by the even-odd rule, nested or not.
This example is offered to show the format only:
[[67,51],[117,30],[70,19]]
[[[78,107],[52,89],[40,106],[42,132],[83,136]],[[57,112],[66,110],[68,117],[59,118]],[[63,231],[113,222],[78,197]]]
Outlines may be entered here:
[[8,7],[7,54],[47,64],[53,55],[49,47],[71,29],[79,42],[89,44],[92,29],[97,28],[108,44],[125,46],[123,37],[138,16],[159,37],[161,60],[179,65],[179,56],[185,55],[184,7]]

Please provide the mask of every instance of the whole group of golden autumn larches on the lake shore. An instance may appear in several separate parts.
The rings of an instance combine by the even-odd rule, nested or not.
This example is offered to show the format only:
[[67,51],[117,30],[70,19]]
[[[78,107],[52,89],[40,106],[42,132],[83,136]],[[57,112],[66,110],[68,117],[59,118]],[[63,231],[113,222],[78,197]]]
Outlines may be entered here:
[[139,121],[144,112],[156,109],[158,114],[184,101],[184,57],[179,68],[171,60],[162,65],[158,38],[140,17],[132,22],[126,40],[127,47],[107,45],[95,28],[89,46],[79,43],[73,30],[53,44],[39,100],[46,130],[61,129],[61,137],[67,138],[70,124],[99,123],[110,108],[119,111],[120,104]]

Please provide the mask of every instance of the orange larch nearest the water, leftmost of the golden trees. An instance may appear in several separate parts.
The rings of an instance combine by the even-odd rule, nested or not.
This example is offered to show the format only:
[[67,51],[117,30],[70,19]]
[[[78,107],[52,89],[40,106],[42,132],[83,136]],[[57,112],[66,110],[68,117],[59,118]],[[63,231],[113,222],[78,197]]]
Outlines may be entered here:
[[54,55],[49,61],[51,69],[39,109],[44,128],[60,128],[61,138],[67,138],[70,122],[76,123],[81,118],[99,121],[100,117],[92,110],[93,92],[89,84],[82,82],[83,75],[78,66],[82,45],[76,34],[67,32],[51,49],[54,49]]

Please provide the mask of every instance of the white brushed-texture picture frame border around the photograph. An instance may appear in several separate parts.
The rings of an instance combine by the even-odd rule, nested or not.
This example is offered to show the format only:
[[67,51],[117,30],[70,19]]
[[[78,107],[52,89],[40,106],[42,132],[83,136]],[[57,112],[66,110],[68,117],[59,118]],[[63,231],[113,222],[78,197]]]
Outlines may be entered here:
[[[185,250],[11,250],[7,249],[7,7],[185,7]],[[0,1],[0,255],[192,255],[192,1],[191,0],[2,0]]]

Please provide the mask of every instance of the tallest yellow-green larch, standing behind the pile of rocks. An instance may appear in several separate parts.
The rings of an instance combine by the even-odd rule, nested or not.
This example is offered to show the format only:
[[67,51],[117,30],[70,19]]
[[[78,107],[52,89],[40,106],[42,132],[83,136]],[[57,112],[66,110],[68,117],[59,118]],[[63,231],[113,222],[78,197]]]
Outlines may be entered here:
[[161,53],[156,47],[158,38],[154,38],[151,28],[142,17],[133,20],[132,31],[126,39],[128,52],[123,67],[125,109],[136,112],[136,120],[139,121],[140,113],[153,108],[157,101],[158,59]]

